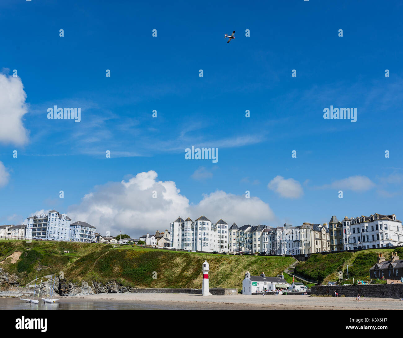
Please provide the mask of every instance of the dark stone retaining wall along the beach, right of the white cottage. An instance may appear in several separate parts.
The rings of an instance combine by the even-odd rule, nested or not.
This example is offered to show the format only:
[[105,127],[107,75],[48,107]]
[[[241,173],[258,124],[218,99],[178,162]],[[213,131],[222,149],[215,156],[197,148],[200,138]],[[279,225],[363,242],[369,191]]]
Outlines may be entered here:
[[312,286],[311,294],[316,296],[334,296],[334,290],[340,296],[403,298],[403,284],[369,284],[369,285],[337,285]]

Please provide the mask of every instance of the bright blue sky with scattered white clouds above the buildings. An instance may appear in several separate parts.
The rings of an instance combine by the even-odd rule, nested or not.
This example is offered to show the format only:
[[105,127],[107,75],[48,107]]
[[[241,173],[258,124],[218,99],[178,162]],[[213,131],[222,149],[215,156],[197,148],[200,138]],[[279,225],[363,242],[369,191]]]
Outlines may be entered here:
[[[403,218],[402,9],[2,1],[0,224],[53,208],[131,236],[201,213],[272,226]],[[22,114],[17,122],[7,100]],[[80,107],[81,122],[47,119],[54,105]],[[357,122],[323,119],[330,105],[357,108]],[[218,163],[185,160],[192,145],[218,148]],[[120,183],[131,178],[131,188]]]

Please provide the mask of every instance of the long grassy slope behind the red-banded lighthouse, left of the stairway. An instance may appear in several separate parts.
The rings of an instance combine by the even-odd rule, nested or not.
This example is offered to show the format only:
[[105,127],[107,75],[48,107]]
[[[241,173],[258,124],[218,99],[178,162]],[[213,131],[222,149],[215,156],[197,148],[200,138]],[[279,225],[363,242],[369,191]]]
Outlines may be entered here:
[[[16,255],[19,259],[12,263],[10,256]],[[113,248],[110,244],[95,243],[0,241],[0,262],[4,261],[0,267],[16,273],[21,285],[36,275],[59,275],[62,271],[64,278],[71,282],[116,280],[136,288],[200,288],[205,260],[210,264],[210,287],[223,288],[240,288],[247,270],[252,275],[263,271],[268,276],[276,276],[293,263],[290,257],[212,255],[131,246]]]

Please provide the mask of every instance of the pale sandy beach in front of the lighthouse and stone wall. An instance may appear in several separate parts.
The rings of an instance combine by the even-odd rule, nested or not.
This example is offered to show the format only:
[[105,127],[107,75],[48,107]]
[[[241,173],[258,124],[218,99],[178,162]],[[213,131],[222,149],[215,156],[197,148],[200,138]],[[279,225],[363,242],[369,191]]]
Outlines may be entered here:
[[106,302],[133,302],[151,307],[172,309],[227,309],[227,310],[401,310],[403,301],[391,298],[311,297],[304,295],[278,296],[201,296],[199,294],[163,293],[108,293],[90,296],[63,297],[70,299],[103,300]]

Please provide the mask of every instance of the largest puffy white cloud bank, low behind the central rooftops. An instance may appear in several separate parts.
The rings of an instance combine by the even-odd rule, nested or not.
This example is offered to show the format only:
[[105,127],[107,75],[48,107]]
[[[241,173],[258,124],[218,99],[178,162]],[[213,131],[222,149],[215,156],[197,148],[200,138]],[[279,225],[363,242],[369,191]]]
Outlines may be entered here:
[[[156,198],[153,198],[156,196]],[[84,221],[97,227],[97,232],[112,235],[127,233],[141,236],[169,229],[170,222],[182,217],[195,219],[202,214],[213,223],[222,218],[227,223],[267,224],[274,220],[269,205],[257,197],[245,198],[223,191],[203,196],[197,204],[180,194],[173,181],[157,181],[157,173],[138,173],[128,181],[96,186],[81,203],[67,213],[73,221]]]

